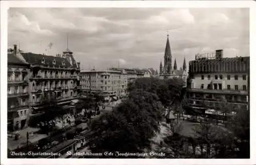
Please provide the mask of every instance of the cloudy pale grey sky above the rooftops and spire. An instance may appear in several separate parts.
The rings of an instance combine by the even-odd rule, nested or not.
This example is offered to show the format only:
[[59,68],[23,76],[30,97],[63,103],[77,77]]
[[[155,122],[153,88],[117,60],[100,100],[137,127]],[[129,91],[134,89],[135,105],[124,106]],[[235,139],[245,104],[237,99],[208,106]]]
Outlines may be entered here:
[[8,48],[17,44],[55,56],[69,46],[85,70],[119,64],[159,71],[167,33],[178,68],[184,57],[188,68],[195,54],[217,49],[224,57],[249,56],[249,9],[10,8],[8,13]]

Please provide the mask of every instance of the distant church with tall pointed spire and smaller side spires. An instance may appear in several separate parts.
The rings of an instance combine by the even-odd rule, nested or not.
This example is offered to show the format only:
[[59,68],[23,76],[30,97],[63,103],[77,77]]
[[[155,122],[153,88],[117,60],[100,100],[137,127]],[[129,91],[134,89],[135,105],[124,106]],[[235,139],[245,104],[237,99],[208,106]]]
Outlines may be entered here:
[[170,51],[170,44],[169,44],[169,35],[167,35],[167,41],[165,46],[164,52],[164,65],[162,65],[162,61],[160,62],[160,79],[172,79],[172,78],[181,78],[184,82],[187,79],[187,72],[186,72],[186,60],[184,58],[183,67],[178,69],[176,59],[174,61],[174,67],[172,66],[172,53]]

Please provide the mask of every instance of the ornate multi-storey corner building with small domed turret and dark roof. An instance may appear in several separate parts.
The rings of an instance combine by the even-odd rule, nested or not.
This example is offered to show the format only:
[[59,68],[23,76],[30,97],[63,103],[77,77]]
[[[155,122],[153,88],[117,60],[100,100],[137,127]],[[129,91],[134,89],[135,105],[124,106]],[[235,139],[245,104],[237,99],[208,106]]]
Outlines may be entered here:
[[[17,51],[14,56],[27,63],[26,95],[29,103],[29,118],[44,113],[44,105],[48,101],[66,109],[72,109],[72,102],[77,102],[80,63],[76,62],[69,49],[62,55],[47,56]],[[26,114],[27,114],[26,113]]]

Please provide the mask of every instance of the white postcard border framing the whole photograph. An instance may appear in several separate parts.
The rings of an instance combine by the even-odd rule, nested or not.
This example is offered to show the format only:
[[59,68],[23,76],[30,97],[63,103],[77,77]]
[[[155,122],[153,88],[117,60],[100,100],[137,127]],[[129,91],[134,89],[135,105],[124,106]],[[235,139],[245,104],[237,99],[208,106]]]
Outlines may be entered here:
[[[256,70],[256,5],[253,1],[1,1],[1,164],[256,164],[255,116],[253,100],[255,87],[250,86],[250,159],[7,159],[7,11],[10,7],[115,7],[115,8],[250,8],[250,84]],[[255,59],[255,60],[254,60]],[[254,119],[254,120],[253,120]]]

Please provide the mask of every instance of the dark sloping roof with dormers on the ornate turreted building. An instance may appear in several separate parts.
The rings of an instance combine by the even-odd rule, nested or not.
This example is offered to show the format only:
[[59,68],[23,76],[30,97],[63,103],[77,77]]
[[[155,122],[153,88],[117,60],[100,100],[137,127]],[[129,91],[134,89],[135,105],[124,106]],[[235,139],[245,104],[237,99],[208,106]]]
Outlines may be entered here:
[[[63,66],[62,62],[65,61],[65,66],[72,67],[72,65],[69,63],[69,61],[66,58],[55,57],[55,56],[46,56],[46,55],[33,54],[33,53],[21,53],[21,54],[24,57],[24,59],[30,64],[53,66],[53,60],[55,58],[55,61],[56,61],[55,66]],[[45,58],[45,64],[42,64],[43,58]]]

